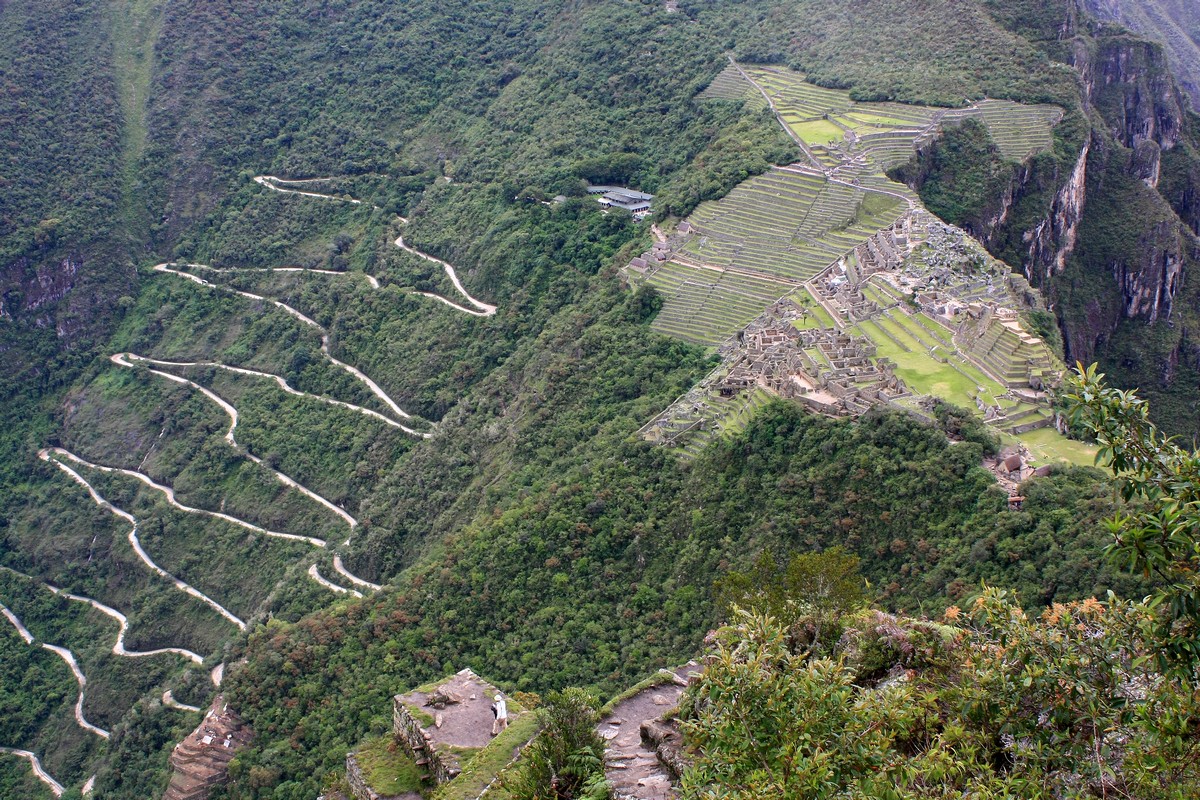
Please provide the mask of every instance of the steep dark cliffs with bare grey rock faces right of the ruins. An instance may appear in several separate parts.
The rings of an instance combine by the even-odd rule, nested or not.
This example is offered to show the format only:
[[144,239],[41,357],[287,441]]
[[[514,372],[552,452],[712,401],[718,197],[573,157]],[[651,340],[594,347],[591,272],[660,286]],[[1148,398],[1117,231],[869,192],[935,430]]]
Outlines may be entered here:
[[1022,265],[1058,317],[1068,362],[1100,361],[1153,399],[1164,428],[1194,437],[1195,116],[1160,47],[1090,22],[1074,2],[995,4],[995,13],[1080,74],[1082,102],[1055,150],[1015,164],[962,128],[900,175],[935,213]]

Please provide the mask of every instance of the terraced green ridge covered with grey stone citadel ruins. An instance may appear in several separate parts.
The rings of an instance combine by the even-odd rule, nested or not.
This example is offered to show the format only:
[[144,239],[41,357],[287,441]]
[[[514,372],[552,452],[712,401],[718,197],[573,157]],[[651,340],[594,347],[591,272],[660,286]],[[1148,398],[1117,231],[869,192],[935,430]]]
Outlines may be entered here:
[[[1010,287],[1008,267],[931,217],[886,170],[907,163],[942,126],[965,119],[980,120],[1006,158],[1024,161],[1051,146],[1061,109],[995,100],[960,109],[863,103],[782,67],[736,62],[701,98],[768,104],[806,163],[775,167],[701,204],[674,236],[626,267],[632,283],[664,296],[655,330],[721,344],[726,357],[648,423],[646,438],[696,452],[727,420],[752,411],[764,386],[799,391],[835,413],[853,413],[864,397],[886,397],[923,414],[920,398],[940,397],[1008,434],[1051,422],[1042,390],[1061,365],[1013,311],[1024,289]],[[809,343],[794,356],[769,356],[799,371],[798,384],[779,383],[784,361],[768,367],[756,355],[758,344],[749,354],[742,345],[748,325],[766,326],[768,339],[779,341],[770,332],[778,318],[760,314],[785,296],[791,305],[772,313],[782,309],[786,330],[851,335],[840,344],[828,339],[830,350]],[[730,359],[757,366],[746,373]],[[839,377],[860,369],[863,359],[883,365],[882,372]],[[827,389],[830,377],[835,386]]]

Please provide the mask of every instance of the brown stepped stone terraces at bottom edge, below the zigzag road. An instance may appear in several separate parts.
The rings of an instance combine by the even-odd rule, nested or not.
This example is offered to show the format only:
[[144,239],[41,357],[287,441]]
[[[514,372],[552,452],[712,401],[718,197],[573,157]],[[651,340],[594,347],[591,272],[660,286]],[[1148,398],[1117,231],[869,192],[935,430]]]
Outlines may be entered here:
[[170,784],[162,800],[206,800],[228,778],[229,762],[254,738],[220,694],[204,720],[170,753]]

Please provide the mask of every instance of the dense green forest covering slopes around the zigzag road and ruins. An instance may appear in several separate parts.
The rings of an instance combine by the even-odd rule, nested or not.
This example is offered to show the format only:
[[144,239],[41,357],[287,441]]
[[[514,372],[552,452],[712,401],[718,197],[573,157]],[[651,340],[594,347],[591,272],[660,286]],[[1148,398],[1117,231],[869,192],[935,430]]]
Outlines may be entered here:
[[[130,10],[142,20],[132,32]],[[1105,125],[1046,32],[1066,16],[1032,0],[866,0],[853,13],[824,0],[682,0],[677,13],[648,0],[0,2],[0,565],[120,607],[131,648],[209,656],[204,670],[169,658],[134,669],[108,650],[112,619],[2,573],[0,600],[95,674],[88,709],[113,738],[72,727],[70,673],[10,631],[0,746],[48,753],[76,788],[98,772],[100,796],[155,796],[172,744],[194,724],[156,697],[169,685],[203,705],[204,672],[244,660],[226,692],[258,738],[223,796],[310,800],[349,747],[390,724],[390,694],[448,670],[470,666],[509,690],[611,692],[695,655],[719,619],[714,578],[764,551],[840,545],[862,559],[874,601],[917,615],[982,582],[1031,609],[1145,594],[1152,582],[1100,555],[1102,519],[1123,507],[1108,480],[1060,469],[1008,511],[979,467],[992,443],[959,426],[948,425],[967,440],[950,444],[898,414],[851,423],[776,403],[692,463],[636,440],[713,359],[648,329],[654,293],[622,289],[613,267],[648,246],[649,225],[601,215],[584,193],[589,181],[634,186],[656,193],[660,217],[678,217],[793,160],[769,114],[695,102],[726,53],[869,100],[1054,102],[1067,109],[1055,151],[1028,166],[1036,191],[989,242],[1016,266],[1013,231],[1045,211]],[[923,191],[970,227],[1018,170],[976,127],[944,142]],[[1192,162],[1171,164],[1164,186],[1183,198]],[[1129,188],[1114,169],[1104,186]],[[364,203],[270,192],[253,182],[260,174],[332,176],[322,191]],[[1100,207],[1111,216],[1123,197]],[[1094,234],[1091,252],[1108,252],[1105,218],[1081,234]],[[499,312],[468,317],[412,294],[455,296],[437,265],[394,246],[401,234]],[[337,357],[434,437],[262,379],[163,368],[238,407],[230,445],[216,404],[109,356],[220,361],[386,408],[331,366],[312,326],[149,269],[168,259],[347,271],[181,267],[311,317]],[[1178,374],[1189,368],[1181,361]],[[269,470],[287,473],[359,519],[342,554],[388,587],[334,602],[306,581],[304,547],[79,468],[137,513],[164,566],[251,622],[240,637],[148,577],[128,527],[37,459],[47,445],[144,471],[184,503],[346,539],[340,519]],[[5,757],[0,793],[10,786],[44,790]]]

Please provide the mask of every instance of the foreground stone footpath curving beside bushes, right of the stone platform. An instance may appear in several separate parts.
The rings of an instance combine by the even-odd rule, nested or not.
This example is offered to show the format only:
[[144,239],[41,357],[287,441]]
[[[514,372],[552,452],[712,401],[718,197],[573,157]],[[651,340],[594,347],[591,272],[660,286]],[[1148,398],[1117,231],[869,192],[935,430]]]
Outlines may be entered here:
[[[683,679],[684,667],[676,672]],[[682,673],[682,674],[680,674]],[[678,793],[654,751],[642,744],[642,723],[658,720],[679,703],[683,686],[668,682],[652,686],[622,700],[596,726],[607,742],[605,751],[605,775],[612,784],[617,800],[674,800]]]

